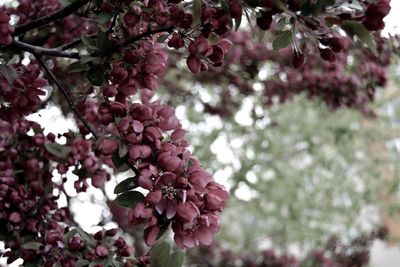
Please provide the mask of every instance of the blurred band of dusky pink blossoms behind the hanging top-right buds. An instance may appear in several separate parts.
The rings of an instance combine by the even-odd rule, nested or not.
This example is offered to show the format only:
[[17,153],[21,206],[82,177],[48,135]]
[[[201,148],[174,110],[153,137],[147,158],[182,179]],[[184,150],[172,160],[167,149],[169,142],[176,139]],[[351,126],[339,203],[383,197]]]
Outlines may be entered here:
[[[301,93],[320,99],[333,109],[350,107],[369,114],[368,103],[374,100],[376,89],[384,87],[387,81],[390,46],[379,37],[375,39],[379,56],[367,48],[352,45],[349,38],[342,36],[334,39],[343,45],[340,51],[332,54],[334,61],[321,61],[319,55],[308,49],[307,60],[297,69],[292,67],[292,49],[272,50],[240,31],[231,33],[228,38],[233,47],[226,54],[224,64],[197,76],[197,80],[212,88],[214,94],[212,99],[201,101],[204,111],[221,117],[232,116],[247,96],[262,99],[263,106],[268,107]],[[178,58],[171,57],[170,67],[179,68],[178,62]],[[354,72],[355,69],[358,71]],[[261,72],[266,74],[263,74],[265,78],[260,78]],[[181,76],[178,73],[164,79],[168,92],[174,92],[171,100],[179,96],[183,103],[198,101],[196,93],[174,82],[182,79]],[[262,85],[262,90],[254,89],[256,83]]]

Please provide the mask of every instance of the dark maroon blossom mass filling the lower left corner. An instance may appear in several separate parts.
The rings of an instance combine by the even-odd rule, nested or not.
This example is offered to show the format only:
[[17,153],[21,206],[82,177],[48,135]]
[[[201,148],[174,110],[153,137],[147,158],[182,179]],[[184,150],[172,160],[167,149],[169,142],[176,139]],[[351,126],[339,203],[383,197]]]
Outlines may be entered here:
[[[39,125],[25,119],[0,120],[0,130],[0,234],[10,249],[0,256],[8,257],[8,263],[22,258],[37,265],[72,267],[78,260],[100,264],[111,253],[121,262],[132,255],[124,239],[114,238],[117,229],[91,237],[65,226],[72,222],[71,215],[57,204],[63,183],[52,181],[53,155],[46,149],[54,144],[53,134],[43,135]],[[29,130],[33,136],[27,135]]]

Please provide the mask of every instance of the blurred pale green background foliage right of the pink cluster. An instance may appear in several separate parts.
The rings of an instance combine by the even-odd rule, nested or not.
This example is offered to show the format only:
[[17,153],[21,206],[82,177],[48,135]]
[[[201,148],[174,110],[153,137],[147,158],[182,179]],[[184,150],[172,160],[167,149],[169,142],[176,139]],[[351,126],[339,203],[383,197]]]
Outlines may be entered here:
[[[180,81],[185,82],[192,83]],[[386,149],[385,142],[395,137],[391,114],[380,112],[387,100],[373,107],[376,118],[367,118],[354,110],[332,111],[304,96],[265,109],[256,95],[238,95],[241,108],[221,119],[204,116],[196,104],[212,98],[213,88],[192,85],[198,97],[190,99],[192,105],[180,105],[185,100],[176,96],[167,100],[190,129],[194,154],[229,184],[223,244],[249,251],[311,248],[331,234],[349,239],[379,224],[378,192],[383,185],[398,191],[397,181],[383,183],[382,169],[391,158],[371,153],[376,146]]]

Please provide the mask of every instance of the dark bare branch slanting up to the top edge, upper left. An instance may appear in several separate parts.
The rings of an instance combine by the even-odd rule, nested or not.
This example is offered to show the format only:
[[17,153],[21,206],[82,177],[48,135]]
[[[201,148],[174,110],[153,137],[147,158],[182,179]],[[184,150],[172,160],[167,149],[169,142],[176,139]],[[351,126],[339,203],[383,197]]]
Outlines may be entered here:
[[71,15],[72,13],[74,13],[79,8],[86,5],[89,1],[90,0],[77,0],[77,1],[73,2],[72,4],[70,4],[69,6],[66,6],[63,9],[54,12],[53,14],[41,17],[32,22],[28,22],[24,25],[21,25],[21,26],[15,28],[14,35],[18,36],[18,35],[24,34],[28,31],[31,31],[31,30],[37,29],[41,26],[44,26],[46,24],[49,24],[50,22],[67,17],[67,16]]

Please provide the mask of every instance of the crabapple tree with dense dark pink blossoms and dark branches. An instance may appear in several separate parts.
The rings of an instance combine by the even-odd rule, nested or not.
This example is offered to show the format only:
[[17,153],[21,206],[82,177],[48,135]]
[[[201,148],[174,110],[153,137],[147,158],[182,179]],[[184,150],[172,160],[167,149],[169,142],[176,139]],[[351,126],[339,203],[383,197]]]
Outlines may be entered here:
[[[387,0],[18,0],[2,6],[2,255],[32,266],[180,266],[183,251],[212,243],[229,193],[192,156],[174,109],[155,100],[157,88],[165,85],[170,99],[195,99],[190,87],[180,88],[188,69],[207,86],[228,84],[251,94],[262,64],[271,60],[275,78],[262,81],[263,105],[308,91],[332,108],[368,114],[366,104],[385,83],[389,64],[379,36],[389,11]],[[239,28],[273,41],[257,43],[234,32]],[[350,57],[362,60],[360,71]],[[223,87],[215,96],[213,103],[201,101],[204,112],[229,116],[240,101]],[[26,118],[48,104],[73,113],[78,131],[44,134]],[[119,229],[89,235],[68,205],[60,207],[60,197],[70,201],[64,185],[71,171],[82,193],[130,173],[107,203]],[[140,226],[152,248],[133,251],[122,237],[132,226]],[[168,229],[177,248],[157,241]]]

